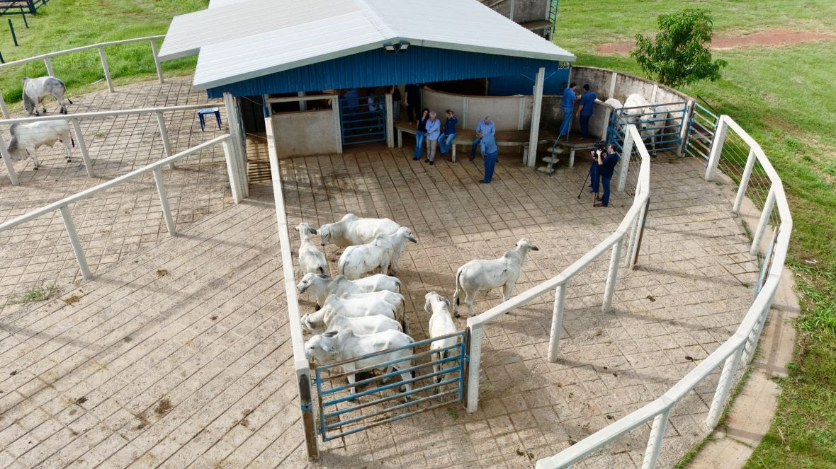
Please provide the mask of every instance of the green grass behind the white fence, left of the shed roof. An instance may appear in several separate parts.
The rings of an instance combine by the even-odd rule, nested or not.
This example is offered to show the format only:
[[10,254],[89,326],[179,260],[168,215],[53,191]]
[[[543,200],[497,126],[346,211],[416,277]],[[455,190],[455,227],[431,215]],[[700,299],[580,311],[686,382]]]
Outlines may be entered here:
[[[206,8],[208,4],[207,0],[54,0],[38,8],[37,16],[27,15],[28,29],[19,15],[3,16],[0,52],[6,62],[12,62],[94,43],[165,34],[173,16]],[[18,47],[12,41],[7,18],[12,18]],[[156,76],[149,43],[121,44],[104,50],[110,75],[116,83],[129,81],[126,78],[151,79]],[[52,62],[55,76],[67,83],[70,98],[107,86],[95,49],[56,57]],[[165,62],[163,72],[170,75],[192,73],[195,63],[194,57]],[[20,101],[21,78],[46,74],[43,61],[3,68],[0,90],[10,110],[13,103]],[[92,84],[97,80],[102,81]],[[17,110],[18,106],[14,108]]]

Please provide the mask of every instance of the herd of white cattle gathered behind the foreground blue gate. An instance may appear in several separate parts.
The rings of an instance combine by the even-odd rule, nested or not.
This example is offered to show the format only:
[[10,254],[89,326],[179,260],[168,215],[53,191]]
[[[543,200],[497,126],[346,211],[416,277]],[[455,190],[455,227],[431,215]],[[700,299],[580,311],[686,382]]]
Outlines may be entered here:
[[[299,232],[298,264],[304,276],[297,285],[299,293],[308,293],[314,298],[317,310],[302,316],[302,326],[314,334],[305,342],[305,356],[308,361],[329,365],[341,361],[339,370],[347,373],[351,394],[354,394],[354,371],[357,368],[379,366],[387,361],[404,359],[390,366],[397,371],[407,370],[412,364],[408,360],[414,352],[414,342],[405,332],[407,325],[404,295],[401,295],[401,281],[397,274],[398,260],[406,249],[406,243],[417,243],[412,231],[391,219],[359,218],[346,214],[338,222],[324,224],[314,229],[307,223],[296,227]],[[312,235],[319,235],[320,245],[344,247],[339,256],[337,273],[331,277],[328,261],[312,241]],[[458,316],[459,290],[464,291],[465,303],[471,315],[473,299],[479,292],[502,287],[505,300],[512,294],[514,283],[520,275],[523,261],[529,250],[538,250],[529,240],[522,239],[517,247],[508,250],[495,260],[472,260],[456,271],[456,291],[453,295],[453,314]],[[375,270],[380,273],[370,275]],[[368,275],[368,276],[364,276]],[[453,322],[451,303],[435,291],[425,296],[424,310],[429,317],[431,339],[457,332]],[[399,316],[400,312],[400,316]],[[400,320],[399,320],[400,317]],[[431,350],[432,361],[446,358],[443,350],[456,345],[456,337],[434,340]],[[401,350],[349,361],[383,350],[404,347]],[[441,365],[433,366],[434,372],[441,371]],[[401,378],[406,381],[410,374],[404,371]],[[443,375],[434,377],[436,383]],[[411,390],[405,383],[406,391]]]

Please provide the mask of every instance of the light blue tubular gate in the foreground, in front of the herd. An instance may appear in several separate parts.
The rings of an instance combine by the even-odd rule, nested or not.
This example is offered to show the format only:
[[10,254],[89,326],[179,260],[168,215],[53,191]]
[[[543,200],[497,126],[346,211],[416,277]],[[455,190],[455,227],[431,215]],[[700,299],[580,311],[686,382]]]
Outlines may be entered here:
[[[430,349],[433,342],[450,337],[456,337],[456,345]],[[350,373],[342,371],[342,366],[376,356],[391,356],[392,352],[398,350],[410,350],[412,353],[379,365],[358,367],[353,371],[358,381],[353,385],[356,386],[356,392],[350,394],[352,385],[346,381]],[[440,360],[435,360],[433,354],[438,351],[444,352],[444,355]],[[461,331],[318,366],[314,370],[319,402],[317,433],[323,441],[330,441],[461,402],[465,392],[466,362],[466,332]],[[407,367],[400,370],[391,368],[399,363],[405,363]],[[439,371],[434,371],[433,366],[440,366]],[[385,372],[364,377],[373,374],[375,370]],[[410,379],[404,381],[400,376],[404,373],[410,374]],[[436,382],[436,376],[441,381]],[[401,386],[405,384],[410,384],[412,390],[402,391]]]

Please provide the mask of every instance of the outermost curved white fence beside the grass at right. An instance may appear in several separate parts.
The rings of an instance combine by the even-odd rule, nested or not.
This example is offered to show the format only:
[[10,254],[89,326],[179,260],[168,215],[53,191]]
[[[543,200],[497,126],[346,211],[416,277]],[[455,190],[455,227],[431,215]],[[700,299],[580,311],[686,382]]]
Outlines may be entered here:
[[[764,250],[762,245],[763,235],[772,216],[773,206],[776,204],[780,217],[780,221],[775,226],[772,243],[771,245],[767,245],[766,248],[770,250],[771,260],[769,262],[765,261],[764,264],[765,272],[763,274],[762,289],[758,292],[747,315],[743,318],[741,325],[737,327],[734,335],[720,345],[717,350],[714,350],[711,355],[707,356],[705,361],[702,361],[694,370],[671,387],[669,391],[665,392],[665,394],[655,401],[650,402],[650,404],[641,407],[628,416],[624,416],[619,421],[615,421],[612,425],[604,427],[575,445],[560,451],[558,454],[538,460],[538,469],[570,467],[585,457],[600,451],[604,446],[614,442],[620,436],[624,436],[650,421],[653,423],[650,429],[650,437],[645,447],[645,458],[642,468],[652,469],[655,467],[659,457],[662,438],[665,436],[665,428],[671,410],[686,394],[694,390],[718,366],[722,365],[720,379],[717,382],[714,398],[711,401],[711,407],[706,419],[706,430],[711,431],[717,425],[723,408],[726,406],[726,399],[728,398],[729,390],[732,388],[732,382],[738,369],[740,366],[747,366],[752,361],[757,340],[760,338],[763,325],[767,320],[769,309],[772,306],[772,299],[777,290],[778,282],[781,279],[781,271],[787,256],[789,237],[793,230],[793,219],[789,211],[787,196],[784,193],[781,179],[778,177],[775,169],[772,168],[772,164],[770,164],[766,154],[763,153],[760,145],[727,115],[721,116],[717,124],[717,137],[711,147],[711,157],[709,159],[708,169],[706,169],[706,180],[714,179],[726,134],[729,131],[737,134],[747,144],[749,149],[746,169],[742,176],[741,184],[737,189],[737,199],[732,211],[737,214],[740,209],[742,199],[746,196],[749,176],[752,174],[752,167],[756,163],[756,160],[766,171],[770,181],[769,195],[766,204],[764,204],[761,210],[760,223],[752,240],[753,254]],[[609,281],[607,285],[609,285]],[[606,302],[604,305],[606,305]],[[557,312],[558,305],[556,304],[555,315],[557,315]]]

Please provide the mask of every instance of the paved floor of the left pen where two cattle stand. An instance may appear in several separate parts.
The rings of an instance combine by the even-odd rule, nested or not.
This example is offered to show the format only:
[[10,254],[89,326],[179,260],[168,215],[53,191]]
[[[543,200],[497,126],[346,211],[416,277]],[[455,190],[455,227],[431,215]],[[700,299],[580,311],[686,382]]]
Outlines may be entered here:
[[[135,83],[117,88],[116,93],[104,90],[72,98],[70,116],[82,112],[208,101],[205,93],[191,90],[191,77],[166,78],[164,84]],[[55,107],[51,101],[47,106],[49,113],[54,113]],[[22,109],[11,110],[13,117],[25,117]],[[214,119],[207,119],[205,132],[201,132],[195,111],[166,113],[165,118],[173,152],[191,148],[227,131],[225,115],[222,131],[217,129]],[[74,149],[73,162],[66,163],[61,144],[54,149],[42,147],[38,150],[41,167],[37,171],[33,169],[31,159],[15,163],[18,186],[11,185],[5,166],[0,164],[0,223],[164,157],[153,114],[84,119],[80,125],[94,161],[96,177],[87,176],[78,148]],[[8,143],[8,126],[0,125],[0,133]],[[178,229],[232,204],[220,145],[181,160],[175,171],[163,169],[163,174]],[[168,236],[152,174],[74,204],[71,210],[94,274]],[[56,285],[66,291],[79,279],[79,267],[64,235],[59,212],[0,232],[0,311],[25,308],[26,305],[10,303],[35,285]]]

